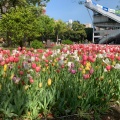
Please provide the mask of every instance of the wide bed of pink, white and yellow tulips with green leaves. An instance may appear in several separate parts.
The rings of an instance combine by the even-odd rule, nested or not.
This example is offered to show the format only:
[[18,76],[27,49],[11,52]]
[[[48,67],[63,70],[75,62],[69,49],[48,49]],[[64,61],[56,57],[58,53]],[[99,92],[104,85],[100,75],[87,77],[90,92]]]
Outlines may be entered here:
[[0,49],[0,116],[100,118],[120,99],[120,46]]

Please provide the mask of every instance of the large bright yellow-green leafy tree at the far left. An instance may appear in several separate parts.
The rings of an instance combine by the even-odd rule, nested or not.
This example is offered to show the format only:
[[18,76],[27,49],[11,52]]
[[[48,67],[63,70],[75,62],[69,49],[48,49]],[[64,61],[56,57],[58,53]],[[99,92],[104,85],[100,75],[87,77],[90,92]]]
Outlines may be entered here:
[[3,15],[0,30],[7,33],[7,43],[19,44],[21,47],[29,37],[37,36],[37,18],[32,7],[16,7]]

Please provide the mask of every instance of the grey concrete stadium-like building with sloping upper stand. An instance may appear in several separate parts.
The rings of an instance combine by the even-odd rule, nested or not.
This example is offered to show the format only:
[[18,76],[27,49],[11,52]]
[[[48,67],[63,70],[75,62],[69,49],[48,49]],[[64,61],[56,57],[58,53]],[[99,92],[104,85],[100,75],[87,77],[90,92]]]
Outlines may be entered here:
[[93,11],[93,43],[120,44],[120,11],[87,1],[85,7]]

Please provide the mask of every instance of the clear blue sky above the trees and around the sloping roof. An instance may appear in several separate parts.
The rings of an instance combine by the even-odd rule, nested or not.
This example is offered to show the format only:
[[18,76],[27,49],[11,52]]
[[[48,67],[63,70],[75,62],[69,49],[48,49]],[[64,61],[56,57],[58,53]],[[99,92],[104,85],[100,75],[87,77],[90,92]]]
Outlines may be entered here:
[[[84,5],[78,4],[79,0],[50,0],[47,3],[46,14],[55,20],[62,20],[64,22],[80,21],[81,24],[92,24],[92,11],[87,9]],[[85,1],[85,0],[82,0]],[[92,0],[93,2],[102,6],[116,9],[120,5],[119,0]]]

